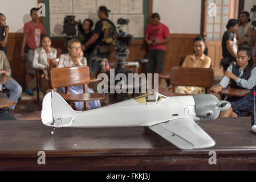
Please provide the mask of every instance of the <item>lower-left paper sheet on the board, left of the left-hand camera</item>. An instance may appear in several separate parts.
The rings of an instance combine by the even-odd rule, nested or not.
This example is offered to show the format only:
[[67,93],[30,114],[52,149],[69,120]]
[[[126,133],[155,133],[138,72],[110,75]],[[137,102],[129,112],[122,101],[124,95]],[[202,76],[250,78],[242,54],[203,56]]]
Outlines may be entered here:
[[65,36],[63,32],[64,14],[50,15],[50,36]]

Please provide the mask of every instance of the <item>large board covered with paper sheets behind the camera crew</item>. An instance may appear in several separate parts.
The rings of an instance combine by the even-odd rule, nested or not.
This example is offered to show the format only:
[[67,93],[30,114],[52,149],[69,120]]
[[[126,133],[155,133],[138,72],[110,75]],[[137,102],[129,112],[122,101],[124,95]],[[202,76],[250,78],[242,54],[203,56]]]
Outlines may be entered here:
[[97,10],[106,6],[111,13],[108,19],[117,27],[117,19],[130,19],[130,23],[122,27],[126,34],[134,38],[144,37],[143,0],[49,0],[50,6],[50,36],[65,37],[63,32],[64,17],[75,15],[76,21],[92,19],[94,29],[99,20]]

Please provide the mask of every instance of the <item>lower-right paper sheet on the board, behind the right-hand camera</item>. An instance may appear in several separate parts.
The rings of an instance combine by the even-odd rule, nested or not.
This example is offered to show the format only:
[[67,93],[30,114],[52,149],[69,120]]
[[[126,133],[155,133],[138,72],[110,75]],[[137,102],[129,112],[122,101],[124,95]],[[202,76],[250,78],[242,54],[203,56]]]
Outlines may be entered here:
[[129,15],[129,34],[134,38],[144,37],[144,15]]

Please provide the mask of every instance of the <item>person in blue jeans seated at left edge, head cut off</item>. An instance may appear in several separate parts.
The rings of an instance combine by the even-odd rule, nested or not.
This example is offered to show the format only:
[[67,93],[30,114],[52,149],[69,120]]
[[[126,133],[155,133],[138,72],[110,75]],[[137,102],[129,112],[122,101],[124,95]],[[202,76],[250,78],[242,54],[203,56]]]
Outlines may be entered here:
[[[7,60],[7,57],[5,55],[5,52],[0,51],[0,70],[5,70],[5,73],[0,74],[0,91],[2,91],[2,87],[4,86],[6,89],[10,90],[10,100],[15,101],[15,105],[18,102],[19,96],[21,96],[22,93],[22,87],[18,84],[17,81],[15,81],[13,78],[11,78],[11,67],[9,64],[9,61]],[[7,110],[9,113],[13,112],[15,105],[9,106]]]

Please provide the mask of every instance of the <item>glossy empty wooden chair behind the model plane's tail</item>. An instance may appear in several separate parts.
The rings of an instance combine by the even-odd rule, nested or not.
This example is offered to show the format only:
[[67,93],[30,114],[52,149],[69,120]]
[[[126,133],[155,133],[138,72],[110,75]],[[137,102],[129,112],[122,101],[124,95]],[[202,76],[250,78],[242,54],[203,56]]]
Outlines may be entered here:
[[[53,89],[66,88],[66,94],[60,94],[68,102],[84,102],[84,107],[88,110],[88,101],[105,100],[105,96],[99,93],[88,93],[87,85],[97,79],[90,79],[89,67],[66,67],[51,69],[51,85]],[[69,94],[69,86],[83,85],[83,94]]]

